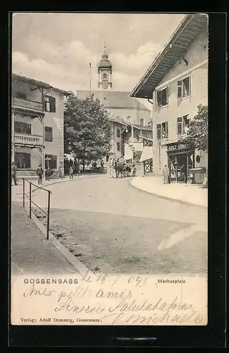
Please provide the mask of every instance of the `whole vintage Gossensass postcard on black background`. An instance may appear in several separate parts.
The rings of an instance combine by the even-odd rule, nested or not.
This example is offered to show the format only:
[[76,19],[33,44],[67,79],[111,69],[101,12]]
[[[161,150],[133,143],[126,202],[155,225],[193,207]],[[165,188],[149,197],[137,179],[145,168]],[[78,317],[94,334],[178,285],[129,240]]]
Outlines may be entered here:
[[13,13],[12,325],[207,325],[208,37]]

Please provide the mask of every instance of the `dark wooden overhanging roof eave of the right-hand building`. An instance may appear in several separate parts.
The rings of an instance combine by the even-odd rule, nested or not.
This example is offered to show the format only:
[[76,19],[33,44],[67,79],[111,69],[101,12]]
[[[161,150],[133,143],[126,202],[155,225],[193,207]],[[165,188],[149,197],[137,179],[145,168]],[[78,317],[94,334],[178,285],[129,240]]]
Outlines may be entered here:
[[152,92],[175,63],[184,56],[199,32],[207,27],[208,16],[194,13],[185,16],[173,33],[168,44],[159,53],[147,72],[131,92],[131,97],[151,98]]

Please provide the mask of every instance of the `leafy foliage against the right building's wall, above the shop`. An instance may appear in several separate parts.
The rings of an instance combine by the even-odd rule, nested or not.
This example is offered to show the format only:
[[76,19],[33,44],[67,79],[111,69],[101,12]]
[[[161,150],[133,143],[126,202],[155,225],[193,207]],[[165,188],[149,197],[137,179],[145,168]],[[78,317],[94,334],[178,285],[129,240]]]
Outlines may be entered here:
[[182,138],[182,143],[192,145],[197,150],[207,152],[209,145],[208,131],[208,106],[198,105],[197,115],[190,122],[190,128],[187,131],[187,136]]

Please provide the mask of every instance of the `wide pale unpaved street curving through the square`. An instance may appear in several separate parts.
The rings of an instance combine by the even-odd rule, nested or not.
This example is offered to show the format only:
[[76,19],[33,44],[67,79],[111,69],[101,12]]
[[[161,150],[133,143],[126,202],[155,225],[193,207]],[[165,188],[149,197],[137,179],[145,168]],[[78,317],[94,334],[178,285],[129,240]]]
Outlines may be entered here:
[[[138,191],[108,175],[49,186],[51,232],[88,268],[206,273],[207,209]],[[45,192],[33,201],[47,207]]]

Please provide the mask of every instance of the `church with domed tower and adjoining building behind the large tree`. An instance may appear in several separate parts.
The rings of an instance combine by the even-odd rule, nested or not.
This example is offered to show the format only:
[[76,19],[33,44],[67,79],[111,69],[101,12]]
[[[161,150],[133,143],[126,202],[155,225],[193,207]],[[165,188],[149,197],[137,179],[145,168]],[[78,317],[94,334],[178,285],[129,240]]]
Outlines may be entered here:
[[104,157],[120,158],[125,155],[125,146],[142,148],[142,136],[152,138],[151,111],[135,98],[130,97],[130,92],[112,90],[112,64],[104,47],[104,54],[98,64],[99,90],[78,90],[76,95],[84,99],[94,95],[103,104],[109,113],[111,122],[111,151]]

